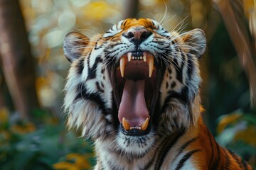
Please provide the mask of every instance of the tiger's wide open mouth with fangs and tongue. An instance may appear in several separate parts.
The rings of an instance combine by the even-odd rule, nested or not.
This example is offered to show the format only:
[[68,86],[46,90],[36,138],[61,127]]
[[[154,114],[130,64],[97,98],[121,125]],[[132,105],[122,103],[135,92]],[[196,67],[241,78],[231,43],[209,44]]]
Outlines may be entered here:
[[160,77],[150,52],[127,52],[120,57],[112,71],[112,86],[124,135],[146,135],[151,131]]

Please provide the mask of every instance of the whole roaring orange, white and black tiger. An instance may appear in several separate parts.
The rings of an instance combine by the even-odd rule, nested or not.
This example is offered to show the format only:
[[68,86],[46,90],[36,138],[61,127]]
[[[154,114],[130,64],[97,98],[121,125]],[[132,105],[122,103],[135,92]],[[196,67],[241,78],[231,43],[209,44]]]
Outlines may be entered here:
[[68,33],[64,110],[94,142],[94,169],[252,169],[203,123],[203,30],[127,18],[92,38]]

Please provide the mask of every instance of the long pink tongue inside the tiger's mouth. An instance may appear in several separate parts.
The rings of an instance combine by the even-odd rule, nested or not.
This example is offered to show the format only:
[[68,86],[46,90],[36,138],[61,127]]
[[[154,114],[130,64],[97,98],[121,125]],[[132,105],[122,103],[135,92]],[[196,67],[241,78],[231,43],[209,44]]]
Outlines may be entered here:
[[149,118],[144,98],[144,84],[145,80],[126,79],[118,113],[120,123],[122,118],[125,118],[129,125],[140,126]]

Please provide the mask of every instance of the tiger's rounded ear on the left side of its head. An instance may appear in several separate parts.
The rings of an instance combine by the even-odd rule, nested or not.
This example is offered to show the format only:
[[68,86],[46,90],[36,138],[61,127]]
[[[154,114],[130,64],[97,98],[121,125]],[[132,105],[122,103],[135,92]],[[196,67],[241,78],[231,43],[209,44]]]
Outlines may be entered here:
[[68,33],[64,38],[64,55],[69,62],[73,62],[82,56],[82,52],[89,43],[89,38],[80,33]]

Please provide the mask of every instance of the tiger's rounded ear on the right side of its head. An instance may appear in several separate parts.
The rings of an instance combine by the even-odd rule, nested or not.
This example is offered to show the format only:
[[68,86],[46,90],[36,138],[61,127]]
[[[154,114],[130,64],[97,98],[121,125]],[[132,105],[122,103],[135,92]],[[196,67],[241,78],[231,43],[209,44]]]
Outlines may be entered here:
[[201,29],[193,29],[182,35],[183,42],[190,47],[190,53],[201,58],[206,50],[206,35]]

